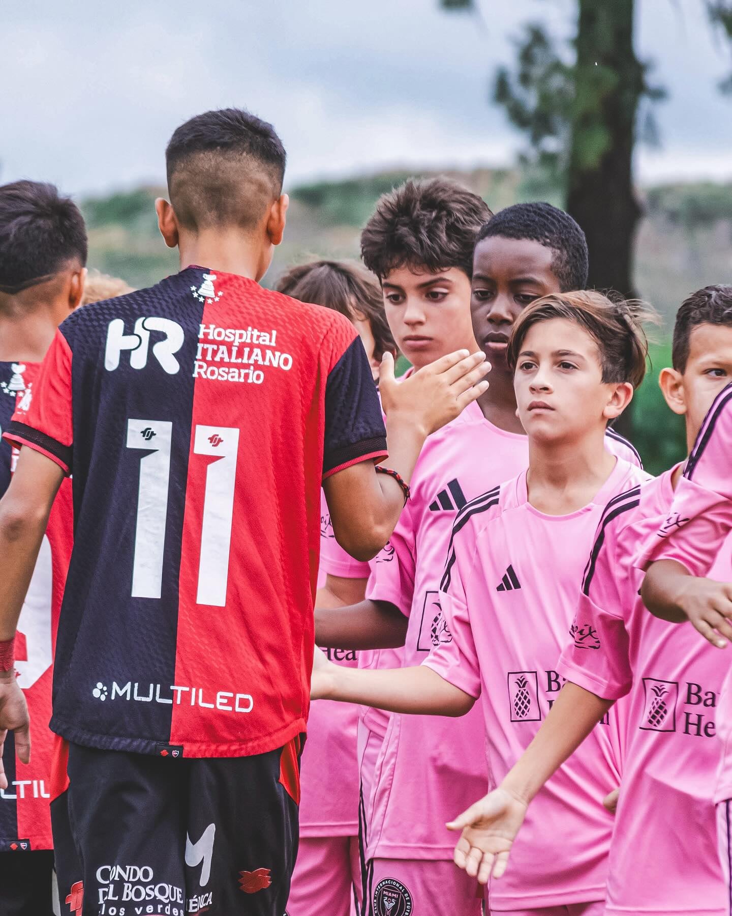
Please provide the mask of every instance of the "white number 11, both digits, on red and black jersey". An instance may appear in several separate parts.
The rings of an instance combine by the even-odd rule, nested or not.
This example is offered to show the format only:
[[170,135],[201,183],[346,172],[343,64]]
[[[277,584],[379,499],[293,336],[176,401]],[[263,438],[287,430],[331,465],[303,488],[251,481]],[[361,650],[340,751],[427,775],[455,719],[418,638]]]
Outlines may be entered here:
[[[161,594],[172,437],[173,424],[165,420],[127,421],[127,448],[148,452],[140,460],[132,575],[135,598],[159,598]],[[193,453],[215,459],[206,469],[196,602],[223,607],[229,583],[239,430],[196,426]]]

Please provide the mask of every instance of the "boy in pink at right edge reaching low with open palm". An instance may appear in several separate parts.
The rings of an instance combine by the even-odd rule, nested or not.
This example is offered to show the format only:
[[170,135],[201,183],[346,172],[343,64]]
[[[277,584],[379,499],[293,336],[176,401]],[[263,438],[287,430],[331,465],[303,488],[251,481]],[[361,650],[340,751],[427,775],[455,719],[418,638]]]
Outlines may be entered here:
[[[732,288],[700,289],[677,313],[673,369],[663,369],[660,378],[669,407],[684,415],[690,447],[730,376]],[[683,471],[679,464],[608,504],[587,562],[574,641],[559,663],[568,683],[499,789],[457,820],[465,827],[458,858],[481,880],[492,856],[498,858],[494,875],[501,875],[526,805],[612,703],[630,694],[606,914],[727,913],[710,803],[725,659],[691,627],[672,627],[646,612],[642,573],[634,567],[647,541],[659,540],[674,488],[684,490]],[[727,580],[730,551],[727,541],[713,571]],[[511,857],[509,872],[513,865]]]

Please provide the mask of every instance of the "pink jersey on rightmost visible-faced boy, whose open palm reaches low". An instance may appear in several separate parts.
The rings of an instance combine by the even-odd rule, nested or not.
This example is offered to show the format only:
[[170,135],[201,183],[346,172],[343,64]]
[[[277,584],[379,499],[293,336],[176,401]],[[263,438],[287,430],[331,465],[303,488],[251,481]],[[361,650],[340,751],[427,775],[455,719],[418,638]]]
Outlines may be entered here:
[[[639,547],[673,500],[667,472],[608,503],[559,672],[608,700],[630,692],[622,787],[610,845],[608,916],[725,916],[711,791],[716,704],[727,659],[640,599]],[[732,577],[732,540],[712,570]]]

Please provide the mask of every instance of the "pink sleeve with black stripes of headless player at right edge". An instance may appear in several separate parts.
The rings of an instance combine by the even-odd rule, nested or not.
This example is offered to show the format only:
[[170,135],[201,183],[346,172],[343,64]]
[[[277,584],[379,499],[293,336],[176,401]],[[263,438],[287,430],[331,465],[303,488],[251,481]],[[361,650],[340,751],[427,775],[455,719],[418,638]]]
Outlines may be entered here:
[[642,545],[636,565],[675,560],[693,575],[706,575],[732,529],[732,385],[706,415],[668,517]]

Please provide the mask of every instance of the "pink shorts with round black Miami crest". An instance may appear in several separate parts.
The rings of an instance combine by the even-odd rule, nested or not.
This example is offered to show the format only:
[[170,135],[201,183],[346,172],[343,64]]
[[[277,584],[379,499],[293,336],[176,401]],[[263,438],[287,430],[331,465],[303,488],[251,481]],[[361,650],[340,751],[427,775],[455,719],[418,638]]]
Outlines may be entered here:
[[452,862],[371,859],[368,916],[480,916],[478,883]]

